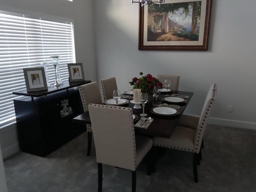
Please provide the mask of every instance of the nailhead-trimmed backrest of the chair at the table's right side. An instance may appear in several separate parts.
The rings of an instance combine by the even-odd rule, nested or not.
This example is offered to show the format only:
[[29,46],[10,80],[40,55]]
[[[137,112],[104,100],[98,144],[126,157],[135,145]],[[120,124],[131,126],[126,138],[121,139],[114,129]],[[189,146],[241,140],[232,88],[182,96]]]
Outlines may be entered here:
[[196,153],[199,153],[200,147],[202,144],[202,139],[204,136],[204,131],[206,128],[206,124],[208,122],[208,118],[210,116],[210,112],[212,110],[212,104],[215,100],[216,97],[216,92],[217,92],[217,84],[213,83],[210,86],[210,89],[208,91],[208,94],[206,96],[204,106],[202,108],[202,112],[198,121],[198,126],[196,128],[196,133],[194,136],[194,151]]

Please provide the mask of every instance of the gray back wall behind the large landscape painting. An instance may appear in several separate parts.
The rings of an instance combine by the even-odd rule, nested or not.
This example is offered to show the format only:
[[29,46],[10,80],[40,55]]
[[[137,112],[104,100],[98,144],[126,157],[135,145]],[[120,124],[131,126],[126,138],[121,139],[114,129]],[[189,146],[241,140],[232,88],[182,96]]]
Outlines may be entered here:
[[[187,114],[200,115],[212,83],[218,84],[211,122],[254,128],[256,108],[255,0],[212,0],[208,51],[138,50],[138,4],[95,0],[98,78],[115,76],[118,88],[144,74],[180,75],[179,90],[194,92]],[[227,112],[227,106],[234,112]]]

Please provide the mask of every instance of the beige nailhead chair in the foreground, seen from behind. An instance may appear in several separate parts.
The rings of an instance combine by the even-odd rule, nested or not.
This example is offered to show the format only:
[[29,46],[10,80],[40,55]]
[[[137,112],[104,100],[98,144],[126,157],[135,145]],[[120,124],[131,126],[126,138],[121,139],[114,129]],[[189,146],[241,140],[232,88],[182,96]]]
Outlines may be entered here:
[[136,168],[152,148],[152,139],[134,133],[132,109],[120,106],[88,106],[98,163],[98,192],[102,191],[102,164],[132,170],[136,191]]

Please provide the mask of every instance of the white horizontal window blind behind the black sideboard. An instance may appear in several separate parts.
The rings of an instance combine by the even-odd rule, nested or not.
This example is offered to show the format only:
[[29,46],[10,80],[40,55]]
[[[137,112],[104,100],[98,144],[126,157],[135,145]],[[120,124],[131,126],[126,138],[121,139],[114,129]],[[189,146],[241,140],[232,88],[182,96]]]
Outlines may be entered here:
[[67,63],[75,63],[72,22],[42,20],[0,11],[0,127],[15,121],[12,92],[26,90],[23,68],[42,67],[48,62],[50,84],[54,66],[50,56],[60,56],[62,80],[68,80]]

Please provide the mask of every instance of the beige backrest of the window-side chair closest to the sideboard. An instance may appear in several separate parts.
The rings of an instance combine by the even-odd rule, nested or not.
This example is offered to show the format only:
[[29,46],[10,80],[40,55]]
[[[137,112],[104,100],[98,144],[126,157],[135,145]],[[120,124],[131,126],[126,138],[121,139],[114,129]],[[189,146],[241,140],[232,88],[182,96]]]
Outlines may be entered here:
[[100,90],[97,82],[91,82],[78,87],[84,112],[88,111],[90,103],[102,104]]

